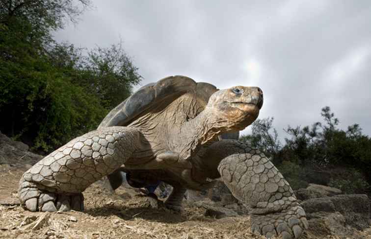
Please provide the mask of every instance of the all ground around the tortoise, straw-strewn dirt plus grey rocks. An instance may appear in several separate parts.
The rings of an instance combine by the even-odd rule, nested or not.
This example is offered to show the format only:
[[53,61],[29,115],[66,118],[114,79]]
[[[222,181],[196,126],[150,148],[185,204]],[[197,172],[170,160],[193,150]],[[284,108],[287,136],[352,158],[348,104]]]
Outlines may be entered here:
[[[250,232],[248,210],[222,185],[207,197],[188,192],[181,214],[125,185],[111,193],[102,182],[84,191],[84,212],[24,211],[17,199],[18,182],[41,158],[27,150],[26,144],[0,134],[0,238],[262,238]],[[303,239],[371,239],[367,196],[341,195],[341,191],[318,185],[297,191],[297,196],[310,224]]]

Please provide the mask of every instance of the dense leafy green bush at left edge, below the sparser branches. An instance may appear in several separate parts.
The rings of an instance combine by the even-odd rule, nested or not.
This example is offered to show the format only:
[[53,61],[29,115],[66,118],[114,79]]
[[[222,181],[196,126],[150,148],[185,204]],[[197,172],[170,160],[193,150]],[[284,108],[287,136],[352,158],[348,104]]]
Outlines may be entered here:
[[48,151],[96,128],[107,109],[45,57],[0,59],[1,130]]

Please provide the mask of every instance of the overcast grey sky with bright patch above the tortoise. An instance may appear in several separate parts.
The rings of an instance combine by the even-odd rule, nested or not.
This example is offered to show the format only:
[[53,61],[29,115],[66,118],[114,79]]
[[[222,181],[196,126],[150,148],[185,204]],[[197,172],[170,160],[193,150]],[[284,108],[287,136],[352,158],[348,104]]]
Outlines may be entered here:
[[371,135],[370,0],[93,3],[55,38],[86,48],[121,39],[141,85],[180,74],[219,89],[259,86],[259,118],[273,116],[281,137],[288,124],[320,121],[323,106],[342,128]]

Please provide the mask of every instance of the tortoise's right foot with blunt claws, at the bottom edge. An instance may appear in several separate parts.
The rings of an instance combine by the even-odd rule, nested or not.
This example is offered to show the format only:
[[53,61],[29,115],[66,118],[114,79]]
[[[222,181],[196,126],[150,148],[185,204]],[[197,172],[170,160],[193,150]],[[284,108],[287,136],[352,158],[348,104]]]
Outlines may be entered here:
[[266,238],[282,235],[283,239],[296,239],[305,229],[308,229],[308,221],[297,203],[278,213],[251,215],[251,231]]

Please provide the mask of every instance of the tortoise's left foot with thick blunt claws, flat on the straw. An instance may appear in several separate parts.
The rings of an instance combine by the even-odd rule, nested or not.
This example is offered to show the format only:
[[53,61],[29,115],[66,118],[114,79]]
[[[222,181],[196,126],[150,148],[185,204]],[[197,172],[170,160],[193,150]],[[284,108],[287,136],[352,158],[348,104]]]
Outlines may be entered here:
[[31,212],[83,211],[82,193],[56,193],[37,188],[35,184],[24,182],[19,191],[22,206]]

